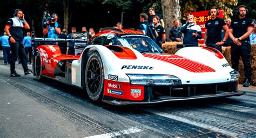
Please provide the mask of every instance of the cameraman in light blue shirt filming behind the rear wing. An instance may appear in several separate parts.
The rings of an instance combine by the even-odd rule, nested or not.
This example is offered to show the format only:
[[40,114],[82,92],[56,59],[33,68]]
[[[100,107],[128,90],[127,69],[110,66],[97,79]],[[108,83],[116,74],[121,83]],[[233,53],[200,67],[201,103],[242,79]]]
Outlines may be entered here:
[[43,23],[43,33],[46,38],[58,38],[60,34],[60,24],[57,22],[58,15],[52,13],[51,17],[46,19],[46,22]]

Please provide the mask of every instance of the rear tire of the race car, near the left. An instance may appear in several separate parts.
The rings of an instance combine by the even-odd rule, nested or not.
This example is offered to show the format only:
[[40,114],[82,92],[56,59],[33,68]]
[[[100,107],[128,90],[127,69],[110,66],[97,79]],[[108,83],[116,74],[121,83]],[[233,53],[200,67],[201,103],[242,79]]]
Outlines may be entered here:
[[33,64],[34,68],[35,68],[35,75],[37,80],[42,81],[43,80],[43,76],[42,76],[42,62],[41,62],[41,55],[40,52],[37,51],[36,52],[36,56],[35,56],[35,63]]

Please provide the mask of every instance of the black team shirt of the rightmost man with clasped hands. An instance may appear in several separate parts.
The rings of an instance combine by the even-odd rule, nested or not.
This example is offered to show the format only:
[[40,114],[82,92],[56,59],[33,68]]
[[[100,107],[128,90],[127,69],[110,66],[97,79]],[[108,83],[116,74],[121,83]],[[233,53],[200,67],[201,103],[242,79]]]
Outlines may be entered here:
[[[233,29],[233,35],[235,38],[239,38],[247,32],[248,27],[254,27],[254,22],[250,18],[234,19],[231,22],[230,29]],[[243,40],[250,41],[247,37]]]

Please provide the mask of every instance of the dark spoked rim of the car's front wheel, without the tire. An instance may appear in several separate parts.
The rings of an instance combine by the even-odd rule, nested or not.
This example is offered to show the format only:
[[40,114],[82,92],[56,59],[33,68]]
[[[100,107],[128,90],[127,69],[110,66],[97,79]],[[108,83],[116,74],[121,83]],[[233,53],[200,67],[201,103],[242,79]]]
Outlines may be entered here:
[[92,58],[88,64],[86,72],[86,84],[91,95],[96,95],[99,91],[100,80],[102,80],[102,68],[100,68],[99,60]]

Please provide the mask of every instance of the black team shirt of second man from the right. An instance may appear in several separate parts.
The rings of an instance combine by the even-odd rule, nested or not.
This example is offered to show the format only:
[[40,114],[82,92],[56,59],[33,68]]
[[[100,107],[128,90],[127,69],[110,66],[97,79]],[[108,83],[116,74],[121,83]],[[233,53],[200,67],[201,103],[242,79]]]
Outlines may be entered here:
[[224,19],[216,17],[214,20],[207,20],[205,23],[205,28],[207,29],[207,44],[215,44],[221,42],[221,30],[223,26],[226,25]]

